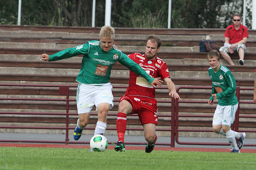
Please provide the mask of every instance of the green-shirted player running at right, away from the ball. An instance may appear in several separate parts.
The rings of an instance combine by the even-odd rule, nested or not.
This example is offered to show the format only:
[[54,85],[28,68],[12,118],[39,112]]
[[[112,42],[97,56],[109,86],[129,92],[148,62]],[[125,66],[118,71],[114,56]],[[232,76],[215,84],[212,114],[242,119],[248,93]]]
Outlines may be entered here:
[[[238,109],[235,93],[236,80],[227,67],[220,65],[220,54],[217,50],[210,51],[207,59],[210,64],[208,73],[212,80],[212,94],[208,104],[213,105],[213,100],[218,99],[218,105],[213,115],[212,129],[215,133],[227,137],[228,142],[233,147],[231,152],[240,153],[239,149],[243,146],[246,134],[230,129]],[[236,144],[236,138],[239,146]]]

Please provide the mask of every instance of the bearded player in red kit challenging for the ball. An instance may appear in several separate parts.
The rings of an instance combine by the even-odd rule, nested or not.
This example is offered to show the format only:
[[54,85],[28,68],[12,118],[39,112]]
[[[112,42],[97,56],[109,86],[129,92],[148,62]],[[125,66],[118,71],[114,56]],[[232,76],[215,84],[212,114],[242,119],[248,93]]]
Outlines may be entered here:
[[[161,44],[162,41],[151,34],[146,40],[145,54],[133,53],[128,55],[128,57],[139,64],[152,78],[160,77],[167,84],[170,90],[169,95],[176,99],[177,97],[179,98],[179,95],[176,93],[176,87],[170,78],[166,63],[156,57]],[[125,95],[119,99],[116,121],[118,142],[115,150],[125,151],[124,134],[127,114],[138,114],[144,128],[144,137],[148,142],[145,152],[150,153],[154,149],[158,138],[155,133],[158,123],[157,112],[155,88],[152,88],[146,79],[130,71],[129,87]]]

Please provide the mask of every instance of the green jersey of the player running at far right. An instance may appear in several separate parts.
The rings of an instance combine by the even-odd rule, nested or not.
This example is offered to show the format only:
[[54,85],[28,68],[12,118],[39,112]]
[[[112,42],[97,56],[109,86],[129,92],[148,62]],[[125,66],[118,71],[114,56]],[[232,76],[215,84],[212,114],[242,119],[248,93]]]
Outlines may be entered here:
[[[216,94],[218,104],[221,106],[236,105],[238,100],[236,98],[236,80],[231,71],[220,65],[219,70],[214,73],[210,67],[208,69],[209,76],[212,80],[212,94]],[[213,97],[210,97],[213,101]]]

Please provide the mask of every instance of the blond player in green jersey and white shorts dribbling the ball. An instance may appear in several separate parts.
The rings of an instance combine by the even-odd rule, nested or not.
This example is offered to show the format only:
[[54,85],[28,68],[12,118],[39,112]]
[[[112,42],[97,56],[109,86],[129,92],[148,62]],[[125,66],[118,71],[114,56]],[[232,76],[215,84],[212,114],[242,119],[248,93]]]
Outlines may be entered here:
[[[149,84],[161,86],[160,78],[151,78],[137,63],[132,61],[120,50],[113,48],[114,28],[103,26],[100,30],[100,41],[88,41],[74,48],[67,48],[53,55],[42,54],[44,61],[57,61],[84,55],[81,70],[76,81],[77,111],[79,119],[74,131],[74,139],[81,137],[82,130],[86,127],[90,118],[90,111],[96,106],[98,122],[94,135],[104,135],[107,127],[107,113],[113,107],[112,86],[109,82],[112,65],[119,61],[134,73],[144,77]],[[92,151],[92,150],[90,150]]]

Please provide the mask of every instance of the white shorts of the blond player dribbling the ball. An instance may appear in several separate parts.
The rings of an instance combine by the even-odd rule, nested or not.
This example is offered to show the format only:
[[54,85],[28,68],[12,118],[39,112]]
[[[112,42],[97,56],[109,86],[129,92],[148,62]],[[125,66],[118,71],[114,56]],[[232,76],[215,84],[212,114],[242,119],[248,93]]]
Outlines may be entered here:
[[109,103],[110,109],[113,108],[112,86],[106,83],[102,86],[88,85],[79,83],[77,87],[77,111],[78,114],[89,113],[94,105]]

